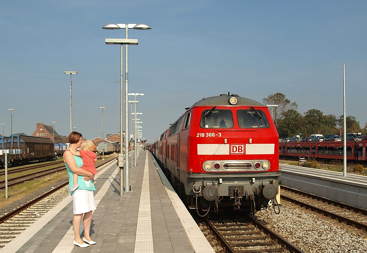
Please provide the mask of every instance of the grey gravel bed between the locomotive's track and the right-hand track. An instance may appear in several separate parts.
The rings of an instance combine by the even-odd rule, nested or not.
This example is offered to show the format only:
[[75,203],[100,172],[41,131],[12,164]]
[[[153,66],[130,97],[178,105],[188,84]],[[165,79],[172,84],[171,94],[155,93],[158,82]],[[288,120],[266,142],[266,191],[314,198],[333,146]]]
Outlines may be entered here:
[[280,214],[268,208],[256,217],[307,253],[367,252],[367,234],[298,205],[282,201]]

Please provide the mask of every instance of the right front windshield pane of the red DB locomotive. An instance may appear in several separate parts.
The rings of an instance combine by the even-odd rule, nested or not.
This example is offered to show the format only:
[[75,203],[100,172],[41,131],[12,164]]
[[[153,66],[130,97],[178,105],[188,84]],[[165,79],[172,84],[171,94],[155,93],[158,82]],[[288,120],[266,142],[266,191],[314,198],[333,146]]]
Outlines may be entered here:
[[238,125],[241,128],[269,128],[270,124],[262,110],[255,110],[253,107],[249,110],[237,111]]

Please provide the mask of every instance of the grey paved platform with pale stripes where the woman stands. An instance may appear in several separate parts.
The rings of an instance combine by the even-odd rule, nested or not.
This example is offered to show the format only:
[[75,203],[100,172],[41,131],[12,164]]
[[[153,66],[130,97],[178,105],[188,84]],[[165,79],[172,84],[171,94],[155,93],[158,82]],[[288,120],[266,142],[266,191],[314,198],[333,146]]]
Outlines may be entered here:
[[[214,253],[155,159],[142,151],[130,168],[130,192],[120,196],[119,168],[108,163],[96,176],[97,209],[92,214],[91,239],[97,244],[73,244],[72,198],[67,197],[33,223],[0,252],[6,253]],[[83,224],[80,228],[83,237]]]

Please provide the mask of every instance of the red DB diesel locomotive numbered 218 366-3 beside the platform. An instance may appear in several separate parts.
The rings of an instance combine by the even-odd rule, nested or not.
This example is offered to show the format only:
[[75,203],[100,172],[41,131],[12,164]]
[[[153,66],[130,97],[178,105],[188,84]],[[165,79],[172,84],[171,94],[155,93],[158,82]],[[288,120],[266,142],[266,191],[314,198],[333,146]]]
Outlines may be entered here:
[[[203,98],[151,147],[172,186],[205,216],[257,211],[278,193],[279,135],[268,107],[238,95]],[[203,214],[204,211],[204,214]],[[278,206],[279,211],[279,206]]]

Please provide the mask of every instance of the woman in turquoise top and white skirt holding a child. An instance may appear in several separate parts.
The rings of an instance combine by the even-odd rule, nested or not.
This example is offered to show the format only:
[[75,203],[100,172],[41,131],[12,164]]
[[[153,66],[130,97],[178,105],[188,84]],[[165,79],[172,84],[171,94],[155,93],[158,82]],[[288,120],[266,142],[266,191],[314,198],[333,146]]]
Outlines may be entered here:
[[[73,230],[74,230],[74,244],[79,247],[88,247],[96,242],[90,238],[90,227],[92,222],[92,211],[96,209],[94,202],[93,191],[95,190],[93,184],[94,174],[84,170],[83,161],[80,156],[75,156],[73,152],[77,152],[77,148],[81,147],[83,143],[83,136],[78,132],[72,132],[69,135],[70,150],[66,150],[63,154],[66,169],[69,177],[69,190],[73,199]],[[73,180],[73,173],[78,175],[77,182]],[[71,191],[74,184],[79,187]],[[83,218],[84,214],[84,218]],[[80,223],[83,218],[84,237],[80,238]]]

